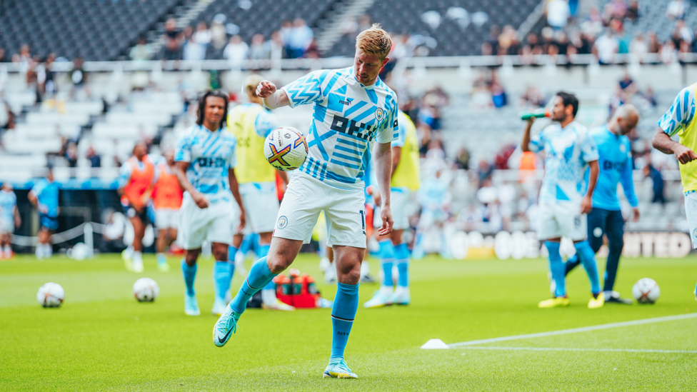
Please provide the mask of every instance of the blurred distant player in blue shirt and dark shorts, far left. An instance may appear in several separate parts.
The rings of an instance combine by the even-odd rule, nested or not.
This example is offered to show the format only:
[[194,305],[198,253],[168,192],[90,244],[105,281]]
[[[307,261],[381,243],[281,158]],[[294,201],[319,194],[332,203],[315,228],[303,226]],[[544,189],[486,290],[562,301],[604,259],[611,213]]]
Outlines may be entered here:
[[29,202],[39,210],[39,243],[36,244],[36,257],[51,257],[53,246],[51,236],[58,228],[58,190],[59,185],[54,182],[54,171],[47,169],[46,177],[41,179],[34,188],[29,191]]

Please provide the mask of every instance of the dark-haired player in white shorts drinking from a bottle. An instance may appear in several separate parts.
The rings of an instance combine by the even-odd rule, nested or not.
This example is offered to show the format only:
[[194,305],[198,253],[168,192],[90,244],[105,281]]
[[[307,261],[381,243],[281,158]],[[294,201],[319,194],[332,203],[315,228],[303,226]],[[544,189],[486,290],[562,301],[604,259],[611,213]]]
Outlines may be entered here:
[[[545,177],[540,189],[537,237],[545,241],[549,252],[549,269],[556,284],[553,298],[541,301],[540,308],[568,306],[564,263],[559,254],[562,236],[573,241],[583,267],[591,281],[591,300],[588,308],[600,308],[604,303],[598,281],[596,255],[587,241],[586,213],[593,206],[593,191],[598,180],[598,148],[588,135],[585,126],[574,121],[578,112],[578,99],[573,94],[560,91],[554,96],[551,124],[532,139],[530,129],[534,119],[529,119],[523,135],[523,151],[545,151]],[[588,190],[585,196],[583,176],[589,166]]]

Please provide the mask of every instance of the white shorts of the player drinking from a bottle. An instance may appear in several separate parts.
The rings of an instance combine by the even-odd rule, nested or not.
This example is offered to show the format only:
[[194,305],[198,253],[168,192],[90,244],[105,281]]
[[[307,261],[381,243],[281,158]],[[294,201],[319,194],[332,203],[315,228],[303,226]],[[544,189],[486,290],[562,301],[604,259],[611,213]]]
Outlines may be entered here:
[[586,214],[574,201],[542,201],[537,212],[537,238],[568,237],[583,241],[588,237]]

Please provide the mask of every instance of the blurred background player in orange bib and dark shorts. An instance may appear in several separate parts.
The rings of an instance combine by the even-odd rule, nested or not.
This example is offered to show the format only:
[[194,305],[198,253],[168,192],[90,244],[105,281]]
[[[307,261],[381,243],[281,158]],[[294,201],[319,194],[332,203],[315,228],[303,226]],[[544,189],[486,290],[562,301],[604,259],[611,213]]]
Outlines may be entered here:
[[119,170],[121,206],[133,225],[133,245],[122,253],[128,271],[143,272],[143,237],[149,221],[148,203],[156,181],[155,164],[148,155],[148,145],[139,141],[133,147],[133,156]]

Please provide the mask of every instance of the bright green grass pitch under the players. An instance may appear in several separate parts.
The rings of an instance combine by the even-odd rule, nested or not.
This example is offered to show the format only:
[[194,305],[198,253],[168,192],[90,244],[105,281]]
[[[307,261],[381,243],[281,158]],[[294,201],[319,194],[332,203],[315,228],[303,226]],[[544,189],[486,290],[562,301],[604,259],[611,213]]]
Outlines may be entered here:
[[[324,296],[333,298],[336,288],[321,283],[318,261],[301,255],[294,266],[319,278]],[[549,296],[542,259],[413,261],[410,306],[358,309],[346,348],[358,380],[321,378],[330,350],[329,309],[250,309],[227,346],[216,348],[212,262],[199,267],[198,317],[184,315],[179,261],[170,264],[172,271],[161,273],[148,256],[146,271],[135,274],[115,255],[0,261],[0,391],[687,391],[697,385],[697,318],[419,348],[430,338],[457,343],[693,313],[694,255],[623,259],[616,289],[631,296],[633,283],[650,277],[661,298],[652,306],[598,310],[586,308],[582,268],[568,278],[569,308],[538,309]],[[375,273],[378,264],[371,259]],[[143,276],[159,283],[154,303],[131,296]],[[59,309],[36,303],[36,291],[49,281],[65,288]],[[240,283],[236,276],[234,290]],[[361,285],[361,305],[377,288]]]

